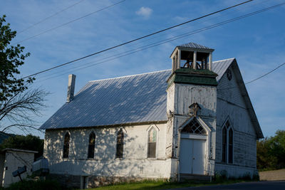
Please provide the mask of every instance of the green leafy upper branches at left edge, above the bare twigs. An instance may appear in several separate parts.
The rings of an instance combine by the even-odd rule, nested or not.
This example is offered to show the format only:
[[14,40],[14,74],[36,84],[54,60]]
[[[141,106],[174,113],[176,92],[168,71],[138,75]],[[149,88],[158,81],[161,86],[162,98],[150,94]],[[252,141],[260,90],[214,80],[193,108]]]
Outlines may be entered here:
[[0,17],[0,102],[8,100],[16,93],[24,92],[27,89],[26,83],[33,83],[34,80],[16,78],[20,74],[18,67],[24,64],[30,53],[22,54],[24,47],[19,44],[9,46],[16,36],[16,31],[11,31],[10,23],[5,23],[5,17]]

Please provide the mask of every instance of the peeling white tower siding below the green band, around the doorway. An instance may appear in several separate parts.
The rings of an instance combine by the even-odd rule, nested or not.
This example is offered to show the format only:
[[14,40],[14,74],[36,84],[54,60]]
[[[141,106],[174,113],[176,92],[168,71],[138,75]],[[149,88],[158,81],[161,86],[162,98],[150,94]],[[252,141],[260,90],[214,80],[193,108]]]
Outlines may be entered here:
[[[170,130],[167,130],[167,156],[179,159],[180,157],[180,127],[191,117],[188,115],[189,106],[193,103],[198,103],[201,109],[198,112],[199,118],[209,127],[205,162],[207,167],[206,173],[213,174],[215,157],[215,128],[216,128],[216,107],[217,107],[217,90],[215,86],[209,85],[191,85],[182,83],[173,83],[167,89],[167,113],[169,120],[167,125]],[[170,115],[171,112],[171,115]],[[172,127],[171,127],[172,126]],[[172,129],[171,129],[172,128]],[[172,139],[172,142],[170,142]],[[172,143],[172,149],[170,148]]]

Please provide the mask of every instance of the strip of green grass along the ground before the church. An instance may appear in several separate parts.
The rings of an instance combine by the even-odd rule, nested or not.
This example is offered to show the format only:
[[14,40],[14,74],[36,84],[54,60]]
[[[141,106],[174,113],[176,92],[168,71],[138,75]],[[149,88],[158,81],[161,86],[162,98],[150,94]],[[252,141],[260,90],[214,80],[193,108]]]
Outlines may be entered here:
[[124,184],[115,184],[110,186],[100,186],[93,190],[125,190],[125,189],[174,189],[174,188],[182,188],[187,186],[207,186],[207,185],[216,185],[216,184],[234,184],[239,182],[245,182],[251,180],[244,179],[227,179],[224,181],[213,181],[213,182],[203,182],[197,183],[194,181],[186,181],[186,182],[167,182],[167,181],[140,181],[135,183],[124,183]]

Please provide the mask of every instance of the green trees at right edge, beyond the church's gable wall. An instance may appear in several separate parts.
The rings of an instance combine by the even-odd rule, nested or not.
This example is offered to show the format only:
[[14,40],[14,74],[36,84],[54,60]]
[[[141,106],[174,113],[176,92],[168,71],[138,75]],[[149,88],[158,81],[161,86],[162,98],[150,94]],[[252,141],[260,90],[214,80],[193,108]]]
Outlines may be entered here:
[[257,141],[257,169],[285,168],[285,130],[277,130],[274,137]]

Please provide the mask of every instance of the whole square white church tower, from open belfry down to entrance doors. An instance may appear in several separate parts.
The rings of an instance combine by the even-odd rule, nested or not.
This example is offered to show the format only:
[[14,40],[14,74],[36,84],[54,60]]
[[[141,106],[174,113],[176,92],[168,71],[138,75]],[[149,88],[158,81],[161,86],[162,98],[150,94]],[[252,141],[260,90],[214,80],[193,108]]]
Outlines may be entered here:
[[[172,74],[167,80],[167,127],[172,130],[167,134],[166,157],[178,161],[177,171],[173,171],[177,176],[180,176],[180,170],[182,173],[208,176],[214,172],[217,74],[212,71],[213,51],[197,43],[186,43],[177,46],[170,56]],[[204,133],[197,134],[195,130],[198,128]],[[191,146],[185,145],[188,142],[202,143],[199,146],[203,153],[200,153],[204,155],[199,159],[201,163],[196,164],[194,162],[198,162],[198,159],[193,157],[192,169],[187,165],[190,161],[188,163],[185,159],[188,157],[185,154],[191,152],[185,153],[183,150]],[[200,149],[193,147],[193,151],[199,152]],[[202,167],[197,169],[197,165]]]

